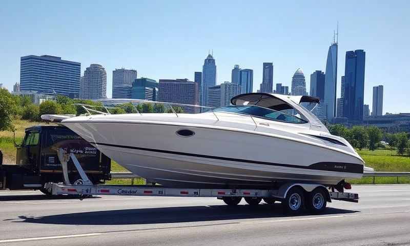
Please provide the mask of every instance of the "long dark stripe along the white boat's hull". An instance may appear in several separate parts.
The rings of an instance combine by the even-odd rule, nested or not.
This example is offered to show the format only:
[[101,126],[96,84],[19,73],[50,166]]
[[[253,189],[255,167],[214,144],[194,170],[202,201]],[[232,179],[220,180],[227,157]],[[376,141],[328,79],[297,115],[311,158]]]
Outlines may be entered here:
[[278,167],[287,167],[287,168],[300,168],[300,169],[333,171],[333,172],[342,172],[342,173],[363,173],[363,165],[356,164],[356,163],[348,163],[348,162],[317,162],[310,166],[298,166],[298,165],[292,165],[292,164],[273,163],[273,162],[266,162],[266,161],[255,161],[255,160],[236,159],[236,158],[230,158],[230,157],[183,153],[183,152],[176,152],[176,151],[169,151],[169,150],[148,149],[148,148],[140,148],[140,147],[134,147],[134,146],[104,144],[101,142],[94,142],[93,144],[117,147],[117,148],[133,149],[133,150],[143,150],[143,151],[151,151],[151,152],[159,152],[159,153],[167,153],[167,154],[175,154],[175,155],[185,155],[185,156],[202,157],[202,158],[209,158],[209,159],[218,159],[218,160],[238,161],[238,162],[262,164],[262,165],[278,166]]

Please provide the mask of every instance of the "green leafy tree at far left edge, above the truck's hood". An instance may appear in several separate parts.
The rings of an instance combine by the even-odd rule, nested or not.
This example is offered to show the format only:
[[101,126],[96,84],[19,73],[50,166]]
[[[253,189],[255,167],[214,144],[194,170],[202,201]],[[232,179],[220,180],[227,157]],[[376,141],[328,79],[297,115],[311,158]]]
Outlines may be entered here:
[[0,131],[13,131],[13,116],[16,113],[16,104],[6,89],[0,89]]

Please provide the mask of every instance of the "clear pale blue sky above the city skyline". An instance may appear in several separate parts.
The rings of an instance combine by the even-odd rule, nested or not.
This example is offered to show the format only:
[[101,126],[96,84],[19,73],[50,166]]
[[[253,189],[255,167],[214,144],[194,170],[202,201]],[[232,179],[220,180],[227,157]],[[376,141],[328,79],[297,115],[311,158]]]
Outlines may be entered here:
[[217,84],[231,80],[235,64],[254,70],[274,64],[274,84],[291,86],[301,68],[325,70],[339,22],[337,95],[345,52],[366,52],[364,103],[384,86],[383,113],[410,112],[410,1],[2,1],[0,84],[19,81],[20,57],[54,55],[107,71],[136,69],[138,77],[194,79],[213,50]]

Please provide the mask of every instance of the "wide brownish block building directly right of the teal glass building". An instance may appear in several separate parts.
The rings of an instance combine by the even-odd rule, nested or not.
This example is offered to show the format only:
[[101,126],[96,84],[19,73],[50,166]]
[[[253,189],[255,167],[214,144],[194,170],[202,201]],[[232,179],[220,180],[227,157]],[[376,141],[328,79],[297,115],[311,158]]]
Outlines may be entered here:
[[[176,104],[199,104],[198,83],[185,79],[159,79],[158,101]],[[193,107],[184,107],[185,112],[195,112]]]

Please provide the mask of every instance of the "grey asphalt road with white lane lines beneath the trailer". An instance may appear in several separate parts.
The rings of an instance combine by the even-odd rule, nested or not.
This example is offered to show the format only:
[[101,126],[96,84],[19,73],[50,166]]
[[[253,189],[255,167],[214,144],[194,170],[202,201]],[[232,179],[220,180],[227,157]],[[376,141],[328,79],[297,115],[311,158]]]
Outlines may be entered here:
[[0,245],[410,245],[410,186],[356,186],[359,203],[285,216],[280,203],[0,192]]

